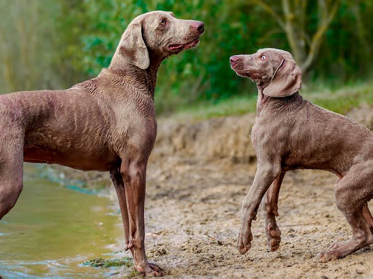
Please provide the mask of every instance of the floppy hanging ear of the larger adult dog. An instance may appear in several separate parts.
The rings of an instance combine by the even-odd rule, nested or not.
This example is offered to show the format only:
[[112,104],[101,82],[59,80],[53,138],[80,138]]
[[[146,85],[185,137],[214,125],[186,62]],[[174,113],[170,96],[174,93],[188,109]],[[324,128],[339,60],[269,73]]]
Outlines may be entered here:
[[131,22],[128,25],[120,41],[119,54],[128,63],[141,69],[149,67],[149,53],[142,39],[140,21]]

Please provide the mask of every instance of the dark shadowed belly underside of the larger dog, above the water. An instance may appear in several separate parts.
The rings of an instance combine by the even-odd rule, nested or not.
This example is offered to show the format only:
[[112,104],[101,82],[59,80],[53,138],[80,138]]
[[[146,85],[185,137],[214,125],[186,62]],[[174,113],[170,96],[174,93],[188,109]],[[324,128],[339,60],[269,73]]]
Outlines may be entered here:
[[[104,155],[105,154],[105,155]],[[99,154],[71,150],[68,154],[61,154],[38,147],[23,149],[23,161],[31,163],[60,164],[81,171],[111,171],[120,166],[120,158],[110,152]]]

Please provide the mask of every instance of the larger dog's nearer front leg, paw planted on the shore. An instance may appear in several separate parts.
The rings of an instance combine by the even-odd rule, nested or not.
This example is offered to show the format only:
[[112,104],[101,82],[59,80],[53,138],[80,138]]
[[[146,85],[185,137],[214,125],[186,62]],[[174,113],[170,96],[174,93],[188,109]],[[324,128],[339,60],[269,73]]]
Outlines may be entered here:
[[125,184],[127,214],[129,220],[128,248],[133,253],[135,269],[145,275],[163,276],[163,271],[156,264],[148,263],[145,255],[145,178],[146,163],[123,163],[120,167]]

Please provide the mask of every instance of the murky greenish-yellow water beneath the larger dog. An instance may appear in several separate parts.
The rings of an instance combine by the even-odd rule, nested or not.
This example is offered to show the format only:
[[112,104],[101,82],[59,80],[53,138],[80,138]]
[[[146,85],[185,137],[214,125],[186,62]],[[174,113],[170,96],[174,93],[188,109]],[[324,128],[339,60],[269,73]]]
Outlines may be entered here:
[[0,221],[0,274],[19,278],[116,273],[82,264],[119,255],[113,254],[113,247],[122,239],[121,221],[110,204],[107,198],[37,178],[35,169],[27,166],[21,196]]

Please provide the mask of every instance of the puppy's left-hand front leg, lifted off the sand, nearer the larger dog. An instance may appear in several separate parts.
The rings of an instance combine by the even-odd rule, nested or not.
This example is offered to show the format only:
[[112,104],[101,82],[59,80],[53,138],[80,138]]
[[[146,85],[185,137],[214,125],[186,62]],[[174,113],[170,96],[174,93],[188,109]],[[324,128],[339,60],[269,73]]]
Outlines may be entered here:
[[258,207],[273,180],[281,174],[280,164],[272,162],[258,162],[253,185],[242,203],[241,226],[237,239],[240,254],[245,254],[251,248],[253,235],[251,233],[252,220],[256,220]]

